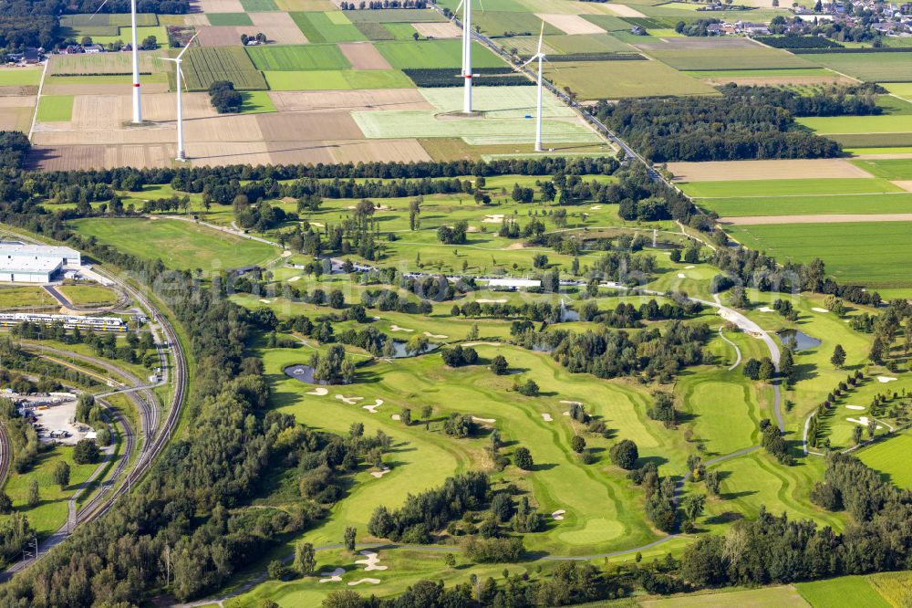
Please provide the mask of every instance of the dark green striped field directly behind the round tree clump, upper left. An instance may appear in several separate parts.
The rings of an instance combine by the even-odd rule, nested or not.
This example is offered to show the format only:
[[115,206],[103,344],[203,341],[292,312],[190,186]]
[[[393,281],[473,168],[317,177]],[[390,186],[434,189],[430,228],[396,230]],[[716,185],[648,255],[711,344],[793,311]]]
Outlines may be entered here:
[[183,61],[184,81],[191,90],[206,90],[216,80],[230,80],[235,89],[266,89],[243,47],[191,47]]

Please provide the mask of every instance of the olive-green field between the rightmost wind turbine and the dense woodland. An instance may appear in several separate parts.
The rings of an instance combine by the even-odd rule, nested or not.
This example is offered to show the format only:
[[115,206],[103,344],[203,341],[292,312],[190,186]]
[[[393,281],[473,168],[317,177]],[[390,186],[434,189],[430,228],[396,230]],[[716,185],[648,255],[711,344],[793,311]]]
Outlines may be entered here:
[[698,79],[658,61],[580,61],[545,64],[545,77],[558,88],[569,87],[582,100],[650,95],[718,95]]

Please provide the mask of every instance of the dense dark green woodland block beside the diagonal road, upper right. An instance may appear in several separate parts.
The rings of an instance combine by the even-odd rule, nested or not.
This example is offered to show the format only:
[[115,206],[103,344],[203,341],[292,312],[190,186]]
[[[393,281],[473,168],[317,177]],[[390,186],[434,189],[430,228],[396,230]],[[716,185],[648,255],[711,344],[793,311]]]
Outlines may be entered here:
[[877,114],[876,85],[801,95],[720,87],[722,97],[600,102],[596,115],[653,162],[829,158],[840,145],[796,128],[795,117]]

